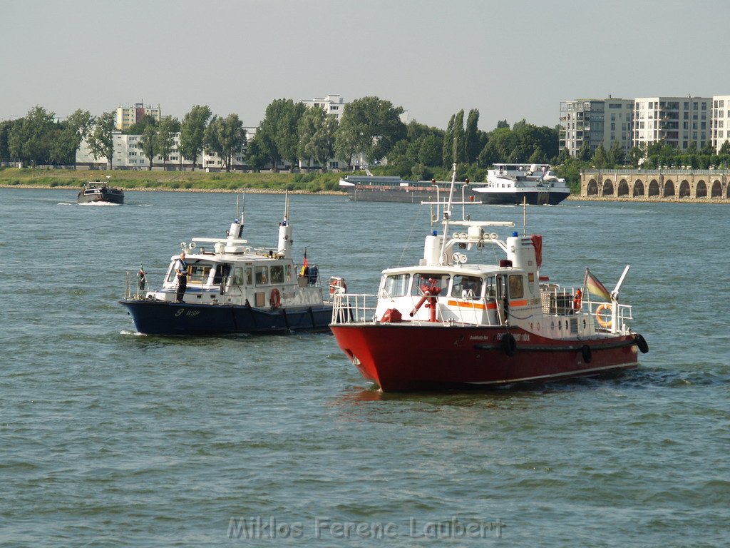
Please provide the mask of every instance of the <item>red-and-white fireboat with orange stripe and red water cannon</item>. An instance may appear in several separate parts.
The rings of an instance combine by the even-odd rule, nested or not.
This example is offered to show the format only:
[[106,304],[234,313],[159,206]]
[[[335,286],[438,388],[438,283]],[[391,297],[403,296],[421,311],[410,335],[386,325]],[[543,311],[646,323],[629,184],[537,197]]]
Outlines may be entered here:
[[[465,209],[474,202],[464,192],[455,202],[452,186],[447,201],[430,202],[436,219],[442,210],[443,230],[429,231],[418,265],[383,270],[377,294],[335,294],[330,327],[362,375],[387,392],[637,368],[638,351],[648,344],[629,329],[631,306],[618,301],[629,267],[612,292],[588,269],[580,288],[551,283],[540,275],[542,236],[520,234],[512,221],[471,220]],[[453,218],[456,205],[461,221]],[[505,258],[471,262],[490,247]]]

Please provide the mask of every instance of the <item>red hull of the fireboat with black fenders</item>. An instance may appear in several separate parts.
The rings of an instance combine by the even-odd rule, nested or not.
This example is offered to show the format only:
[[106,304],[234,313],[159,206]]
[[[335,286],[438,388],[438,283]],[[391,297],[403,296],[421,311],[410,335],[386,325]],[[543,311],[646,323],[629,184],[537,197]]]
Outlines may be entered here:
[[[385,392],[550,381],[638,365],[636,335],[555,340],[520,329],[442,324],[345,324],[331,330],[363,376]],[[516,340],[513,353],[502,343],[507,332]]]

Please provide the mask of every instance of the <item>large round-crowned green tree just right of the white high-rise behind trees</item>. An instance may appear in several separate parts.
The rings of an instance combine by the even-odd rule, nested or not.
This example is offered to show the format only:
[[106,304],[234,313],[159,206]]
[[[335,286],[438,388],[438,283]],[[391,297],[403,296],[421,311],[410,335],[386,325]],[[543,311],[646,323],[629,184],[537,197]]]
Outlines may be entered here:
[[407,136],[406,125],[400,119],[403,112],[402,107],[393,107],[390,101],[375,96],[355,99],[345,105],[337,140],[344,139],[348,147],[364,153],[370,163],[380,161]]

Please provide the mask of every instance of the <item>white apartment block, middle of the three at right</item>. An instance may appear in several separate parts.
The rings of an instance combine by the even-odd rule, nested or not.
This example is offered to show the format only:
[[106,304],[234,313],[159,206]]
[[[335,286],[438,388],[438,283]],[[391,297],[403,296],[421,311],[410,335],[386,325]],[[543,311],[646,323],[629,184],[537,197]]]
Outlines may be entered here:
[[637,97],[634,99],[634,146],[664,141],[680,150],[710,140],[710,97]]

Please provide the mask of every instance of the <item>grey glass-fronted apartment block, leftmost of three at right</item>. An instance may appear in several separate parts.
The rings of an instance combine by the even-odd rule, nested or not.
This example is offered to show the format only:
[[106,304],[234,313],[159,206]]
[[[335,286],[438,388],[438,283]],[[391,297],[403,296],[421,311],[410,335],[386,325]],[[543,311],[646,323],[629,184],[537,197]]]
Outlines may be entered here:
[[633,99],[574,99],[560,104],[560,148],[571,156],[588,143],[591,154],[603,144],[608,150],[615,141],[631,149]]

